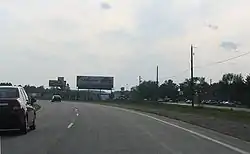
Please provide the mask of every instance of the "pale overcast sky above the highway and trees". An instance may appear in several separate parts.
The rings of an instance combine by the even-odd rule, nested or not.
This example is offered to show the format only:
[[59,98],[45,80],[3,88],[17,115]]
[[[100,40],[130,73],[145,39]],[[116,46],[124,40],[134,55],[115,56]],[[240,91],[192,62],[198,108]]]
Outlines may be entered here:
[[[48,86],[64,76],[115,77],[115,88],[189,76],[250,51],[249,0],[1,0],[0,81]],[[249,56],[195,69],[217,81],[250,73]]]

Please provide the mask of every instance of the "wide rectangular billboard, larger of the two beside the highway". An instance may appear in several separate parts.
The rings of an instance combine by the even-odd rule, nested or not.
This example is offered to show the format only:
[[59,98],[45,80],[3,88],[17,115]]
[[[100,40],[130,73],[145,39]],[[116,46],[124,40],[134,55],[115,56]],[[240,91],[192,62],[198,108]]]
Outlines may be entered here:
[[114,77],[77,76],[76,84],[78,89],[111,90],[114,86]]

